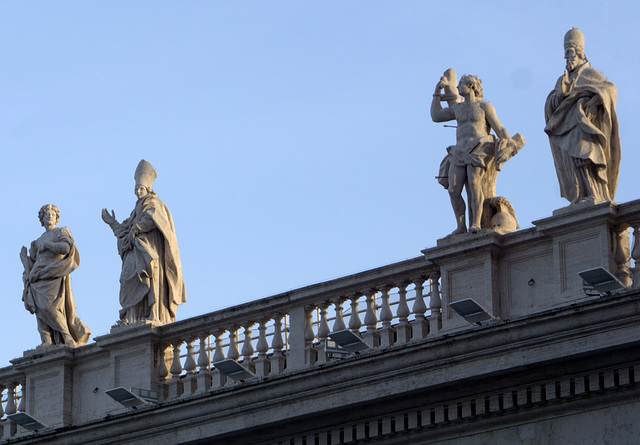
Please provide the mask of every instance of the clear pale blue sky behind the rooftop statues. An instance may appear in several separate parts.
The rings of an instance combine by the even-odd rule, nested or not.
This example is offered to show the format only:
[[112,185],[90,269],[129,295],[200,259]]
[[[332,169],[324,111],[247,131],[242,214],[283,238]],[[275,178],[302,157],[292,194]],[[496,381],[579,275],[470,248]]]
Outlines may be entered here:
[[176,225],[179,320],[419,256],[455,228],[434,179],[455,133],[429,116],[447,68],[527,139],[498,194],[523,228],[551,216],[568,202],[543,107],[572,26],[618,87],[616,201],[639,198],[638,17],[636,1],[0,2],[0,366],[40,343],[19,252],[46,203],[80,251],[78,315],[109,332],[121,261],[100,211],[129,215],[143,158]]

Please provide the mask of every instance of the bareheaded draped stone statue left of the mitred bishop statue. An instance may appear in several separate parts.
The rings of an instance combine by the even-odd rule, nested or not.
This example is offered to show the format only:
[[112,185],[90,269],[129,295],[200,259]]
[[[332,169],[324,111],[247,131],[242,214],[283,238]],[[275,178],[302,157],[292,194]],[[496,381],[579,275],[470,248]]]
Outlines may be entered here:
[[36,314],[42,339],[39,347],[51,345],[82,346],[91,331],[76,315],[71,292],[71,272],[80,265],[80,254],[66,227],[56,227],[58,207],[47,204],[38,212],[45,232],[31,243],[29,253],[23,247],[20,259],[24,266],[22,301]]

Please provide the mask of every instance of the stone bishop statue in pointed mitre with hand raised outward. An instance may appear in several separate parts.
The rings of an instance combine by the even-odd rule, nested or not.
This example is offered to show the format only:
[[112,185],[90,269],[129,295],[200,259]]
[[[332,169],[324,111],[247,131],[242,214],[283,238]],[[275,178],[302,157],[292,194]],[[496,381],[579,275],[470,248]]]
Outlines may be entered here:
[[151,164],[140,161],[134,175],[138,201],[121,224],[113,210],[102,209],[122,258],[119,324],[172,323],[187,300],[173,218],[151,188],[157,176]]

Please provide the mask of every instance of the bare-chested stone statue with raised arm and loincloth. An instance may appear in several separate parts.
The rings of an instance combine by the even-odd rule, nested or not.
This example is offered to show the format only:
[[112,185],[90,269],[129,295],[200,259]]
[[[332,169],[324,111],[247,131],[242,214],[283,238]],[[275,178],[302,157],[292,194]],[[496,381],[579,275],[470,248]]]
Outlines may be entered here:
[[[448,154],[440,164],[438,176],[438,182],[449,191],[456,218],[457,228],[451,235],[467,232],[463,187],[467,191],[471,233],[493,229],[496,223],[492,222],[492,217],[496,213],[507,217],[505,212],[489,211],[492,205],[490,200],[496,197],[496,181],[502,165],[525,144],[524,137],[520,134],[511,138],[500,123],[493,105],[482,100],[484,93],[480,79],[465,75],[457,88],[455,83],[455,71],[445,71],[436,85],[431,102],[431,118],[434,122],[455,120],[458,124],[456,145],[447,147]],[[443,108],[441,101],[446,101],[448,107]],[[498,139],[490,133],[492,129]],[[508,203],[506,198],[502,198],[501,202],[505,201]],[[512,210],[507,212],[508,217],[512,217],[513,221],[507,224],[503,218],[499,224],[502,227],[501,233],[519,228],[513,207],[511,204],[508,207]]]

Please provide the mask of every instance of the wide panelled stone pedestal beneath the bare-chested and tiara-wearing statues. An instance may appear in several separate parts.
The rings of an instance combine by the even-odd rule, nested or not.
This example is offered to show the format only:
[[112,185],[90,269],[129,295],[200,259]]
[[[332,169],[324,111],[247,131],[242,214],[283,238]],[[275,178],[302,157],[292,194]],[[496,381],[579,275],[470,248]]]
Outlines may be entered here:
[[470,326],[449,307],[466,298],[496,319],[597,298],[585,294],[578,272],[603,267],[628,275],[628,228],[619,219],[616,204],[578,205],[534,221],[531,229],[438,240],[437,247],[422,252],[441,268],[441,332]]

